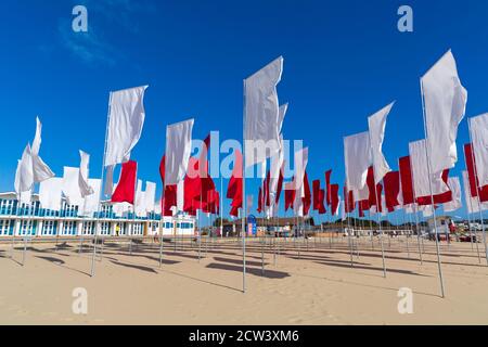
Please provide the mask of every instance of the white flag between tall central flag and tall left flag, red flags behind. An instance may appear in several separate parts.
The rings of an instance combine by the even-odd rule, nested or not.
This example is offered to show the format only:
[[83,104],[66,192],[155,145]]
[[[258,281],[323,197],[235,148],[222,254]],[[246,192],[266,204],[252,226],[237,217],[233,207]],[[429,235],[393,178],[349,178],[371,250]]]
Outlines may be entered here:
[[166,128],[165,185],[177,185],[184,179],[192,152],[194,119]]

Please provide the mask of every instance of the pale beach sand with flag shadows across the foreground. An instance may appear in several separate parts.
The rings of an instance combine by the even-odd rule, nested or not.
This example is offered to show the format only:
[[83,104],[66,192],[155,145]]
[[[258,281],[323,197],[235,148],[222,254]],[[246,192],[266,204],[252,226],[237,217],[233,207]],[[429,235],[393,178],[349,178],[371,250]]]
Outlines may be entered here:
[[[435,243],[425,241],[424,264],[416,239],[385,240],[383,278],[378,239],[359,241],[354,268],[347,237],[281,241],[273,257],[247,242],[247,292],[242,293],[242,253],[236,242],[215,241],[175,250],[165,244],[159,268],[157,243],[132,247],[106,241],[91,278],[91,247],[78,242],[55,249],[33,243],[22,261],[22,244],[0,245],[0,324],[487,324],[488,267],[470,243],[441,244],[446,298],[440,297]],[[288,247],[285,249],[285,245]],[[298,255],[299,249],[299,255]],[[474,248],[476,250],[476,247]],[[88,313],[75,314],[74,288],[88,293]],[[413,313],[400,314],[401,287],[413,292]]]

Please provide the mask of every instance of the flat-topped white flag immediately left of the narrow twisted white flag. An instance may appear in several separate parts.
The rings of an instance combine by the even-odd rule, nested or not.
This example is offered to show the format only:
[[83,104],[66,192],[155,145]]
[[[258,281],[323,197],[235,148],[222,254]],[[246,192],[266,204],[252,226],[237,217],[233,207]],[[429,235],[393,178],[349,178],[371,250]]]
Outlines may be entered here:
[[367,183],[368,169],[372,163],[368,131],[344,138],[344,158],[347,188],[351,191],[362,190]]

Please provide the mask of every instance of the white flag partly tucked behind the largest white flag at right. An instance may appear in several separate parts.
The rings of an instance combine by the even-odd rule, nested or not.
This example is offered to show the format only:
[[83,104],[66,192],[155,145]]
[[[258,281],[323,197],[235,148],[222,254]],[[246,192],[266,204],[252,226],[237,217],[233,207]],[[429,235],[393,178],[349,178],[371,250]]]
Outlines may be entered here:
[[[425,149],[425,140],[409,143],[413,188],[416,197],[431,196],[427,153]],[[442,181],[442,172],[432,174],[431,182],[433,195],[442,194],[449,191],[449,187]]]

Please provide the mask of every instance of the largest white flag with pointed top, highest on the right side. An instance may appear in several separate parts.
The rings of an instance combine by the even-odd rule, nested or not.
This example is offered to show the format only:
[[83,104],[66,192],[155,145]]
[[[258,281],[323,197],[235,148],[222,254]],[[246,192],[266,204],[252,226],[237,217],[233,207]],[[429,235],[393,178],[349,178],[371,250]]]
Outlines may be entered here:
[[455,138],[467,102],[450,50],[422,77],[421,85],[431,170],[439,174],[458,162]]

